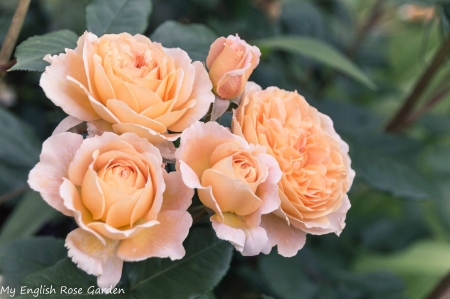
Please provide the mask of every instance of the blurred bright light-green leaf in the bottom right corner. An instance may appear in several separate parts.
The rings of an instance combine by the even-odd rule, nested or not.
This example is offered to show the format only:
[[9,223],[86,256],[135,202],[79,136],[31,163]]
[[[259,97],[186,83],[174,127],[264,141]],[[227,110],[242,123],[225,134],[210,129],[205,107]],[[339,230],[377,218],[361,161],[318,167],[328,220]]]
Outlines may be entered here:
[[356,259],[357,271],[392,271],[406,281],[411,299],[423,298],[439,279],[450,271],[450,244],[421,241],[391,255],[362,254]]

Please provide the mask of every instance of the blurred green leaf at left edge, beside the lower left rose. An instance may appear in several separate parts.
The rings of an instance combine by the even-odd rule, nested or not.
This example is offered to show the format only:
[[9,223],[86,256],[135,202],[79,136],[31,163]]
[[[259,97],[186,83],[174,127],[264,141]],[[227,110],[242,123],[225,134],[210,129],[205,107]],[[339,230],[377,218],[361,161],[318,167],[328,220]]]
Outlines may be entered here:
[[50,207],[39,193],[27,191],[2,226],[0,245],[31,236],[58,214],[59,212]]

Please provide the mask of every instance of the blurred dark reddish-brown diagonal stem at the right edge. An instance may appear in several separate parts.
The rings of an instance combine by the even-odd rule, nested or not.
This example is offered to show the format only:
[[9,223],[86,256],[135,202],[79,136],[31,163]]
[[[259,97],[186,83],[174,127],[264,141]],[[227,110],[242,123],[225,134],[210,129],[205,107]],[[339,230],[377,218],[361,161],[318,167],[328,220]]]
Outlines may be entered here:
[[389,124],[386,126],[386,132],[398,133],[402,127],[403,123],[408,120],[414,106],[420,99],[420,96],[425,92],[431,79],[436,74],[439,67],[445,62],[447,55],[450,52],[450,34],[447,36],[446,40],[442,43],[439,50],[434,55],[430,65],[425,69],[425,71],[420,76],[416,85],[412,89],[409,96],[406,98],[402,107],[397,111],[394,117],[391,119]]

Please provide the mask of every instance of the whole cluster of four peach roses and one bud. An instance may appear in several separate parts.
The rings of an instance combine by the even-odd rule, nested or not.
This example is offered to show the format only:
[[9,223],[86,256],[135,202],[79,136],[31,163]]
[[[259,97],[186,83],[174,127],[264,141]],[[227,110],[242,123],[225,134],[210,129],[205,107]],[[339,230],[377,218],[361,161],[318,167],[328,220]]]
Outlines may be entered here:
[[[341,233],[355,176],[348,146],[296,91],[248,82],[260,55],[221,37],[207,71],[142,35],[86,32],[44,58],[40,84],[69,116],[28,182],[74,217],[68,254],[100,287],[119,282],[123,261],[184,256],[194,190],[217,237],[245,256],[277,246],[291,257],[308,233]],[[225,100],[238,103],[231,129],[207,121]],[[82,122],[85,137],[67,132]]]

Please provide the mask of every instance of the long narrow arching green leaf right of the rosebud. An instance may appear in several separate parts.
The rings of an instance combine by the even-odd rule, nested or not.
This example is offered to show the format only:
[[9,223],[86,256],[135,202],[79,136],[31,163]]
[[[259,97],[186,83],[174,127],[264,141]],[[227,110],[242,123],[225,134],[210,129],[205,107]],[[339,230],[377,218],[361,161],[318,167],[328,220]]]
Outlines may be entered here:
[[311,37],[276,36],[252,41],[261,50],[284,50],[317,60],[327,66],[346,74],[347,76],[376,89],[375,84],[345,55],[333,46]]

